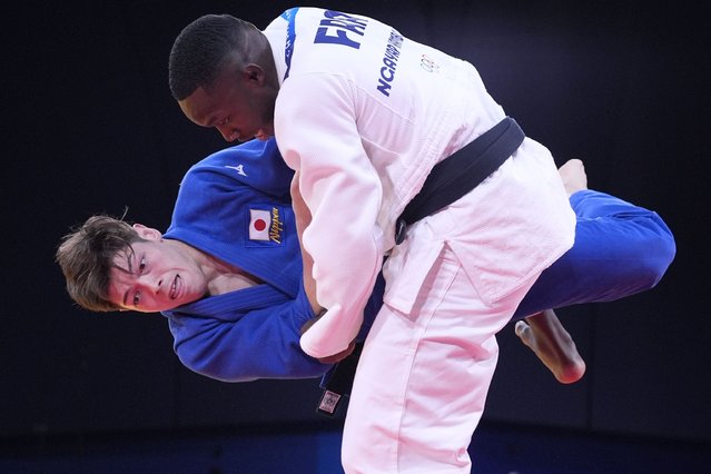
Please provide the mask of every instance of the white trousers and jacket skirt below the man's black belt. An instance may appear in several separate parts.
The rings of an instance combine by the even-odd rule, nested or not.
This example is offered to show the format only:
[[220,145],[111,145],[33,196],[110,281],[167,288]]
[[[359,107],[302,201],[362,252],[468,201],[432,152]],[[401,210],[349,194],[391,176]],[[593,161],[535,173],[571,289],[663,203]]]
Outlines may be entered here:
[[[567,234],[572,245],[574,216],[557,171],[541,171],[535,160],[508,160],[494,182],[413,225],[386,263],[385,305],[365,342],[346,416],[347,474],[470,472],[467,447],[498,356],[495,335],[542,265],[564,251],[542,253],[545,235]],[[490,225],[473,231],[473,213]],[[546,234],[555,228],[549,219],[565,223],[564,231]],[[480,271],[482,265],[501,271]]]

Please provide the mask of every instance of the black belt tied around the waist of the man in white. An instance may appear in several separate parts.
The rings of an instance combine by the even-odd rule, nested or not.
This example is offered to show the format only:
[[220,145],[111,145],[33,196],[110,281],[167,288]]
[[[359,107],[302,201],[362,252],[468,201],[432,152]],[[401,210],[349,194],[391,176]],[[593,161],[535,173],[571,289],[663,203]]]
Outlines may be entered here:
[[474,141],[432,168],[422,190],[397,220],[396,244],[405,227],[448,206],[496,171],[523,142],[525,135],[511,117],[504,118]]

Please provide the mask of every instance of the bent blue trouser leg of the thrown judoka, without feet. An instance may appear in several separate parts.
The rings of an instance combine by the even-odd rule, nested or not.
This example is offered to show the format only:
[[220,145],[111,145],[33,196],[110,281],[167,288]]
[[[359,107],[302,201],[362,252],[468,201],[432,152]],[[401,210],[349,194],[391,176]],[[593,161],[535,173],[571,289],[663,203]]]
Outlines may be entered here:
[[575,244],[541,274],[514,320],[650,289],[674,259],[674,237],[656,213],[593,190],[570,200],[577,216]]

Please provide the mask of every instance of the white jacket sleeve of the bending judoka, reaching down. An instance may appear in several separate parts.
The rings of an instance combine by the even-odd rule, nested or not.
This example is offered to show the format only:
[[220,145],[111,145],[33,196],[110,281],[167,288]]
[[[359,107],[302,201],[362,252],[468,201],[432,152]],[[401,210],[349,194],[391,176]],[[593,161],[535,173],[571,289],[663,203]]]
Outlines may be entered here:
[[382,186],[361,142],[354,97],[339,77],[292,77],[275,112],[279,150],[299,171],[312,211],[302,245],[314,259],[318,303],[328,309],[302,337],[314,357],[342,352],[355,338],[382,265]]

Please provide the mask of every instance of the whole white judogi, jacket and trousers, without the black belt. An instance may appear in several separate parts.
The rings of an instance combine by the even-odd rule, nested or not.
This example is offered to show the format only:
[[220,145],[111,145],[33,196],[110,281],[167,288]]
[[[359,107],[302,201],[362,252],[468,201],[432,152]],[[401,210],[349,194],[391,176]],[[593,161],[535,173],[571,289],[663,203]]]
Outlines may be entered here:
[[[313,214],[303,245],[328,308],[302,347],[344,349],[384,268],[385,307],[356,374],[347,472],[468,472],[495,333],[573,244],[546,148],[526,138],[494,175],[408,230],[394,225],[440,160],[505,117],[468,62],[349,13],[292,9],[265,30],[283,78],[277,144]],[[285,78],[285,79],[284,79]]]

